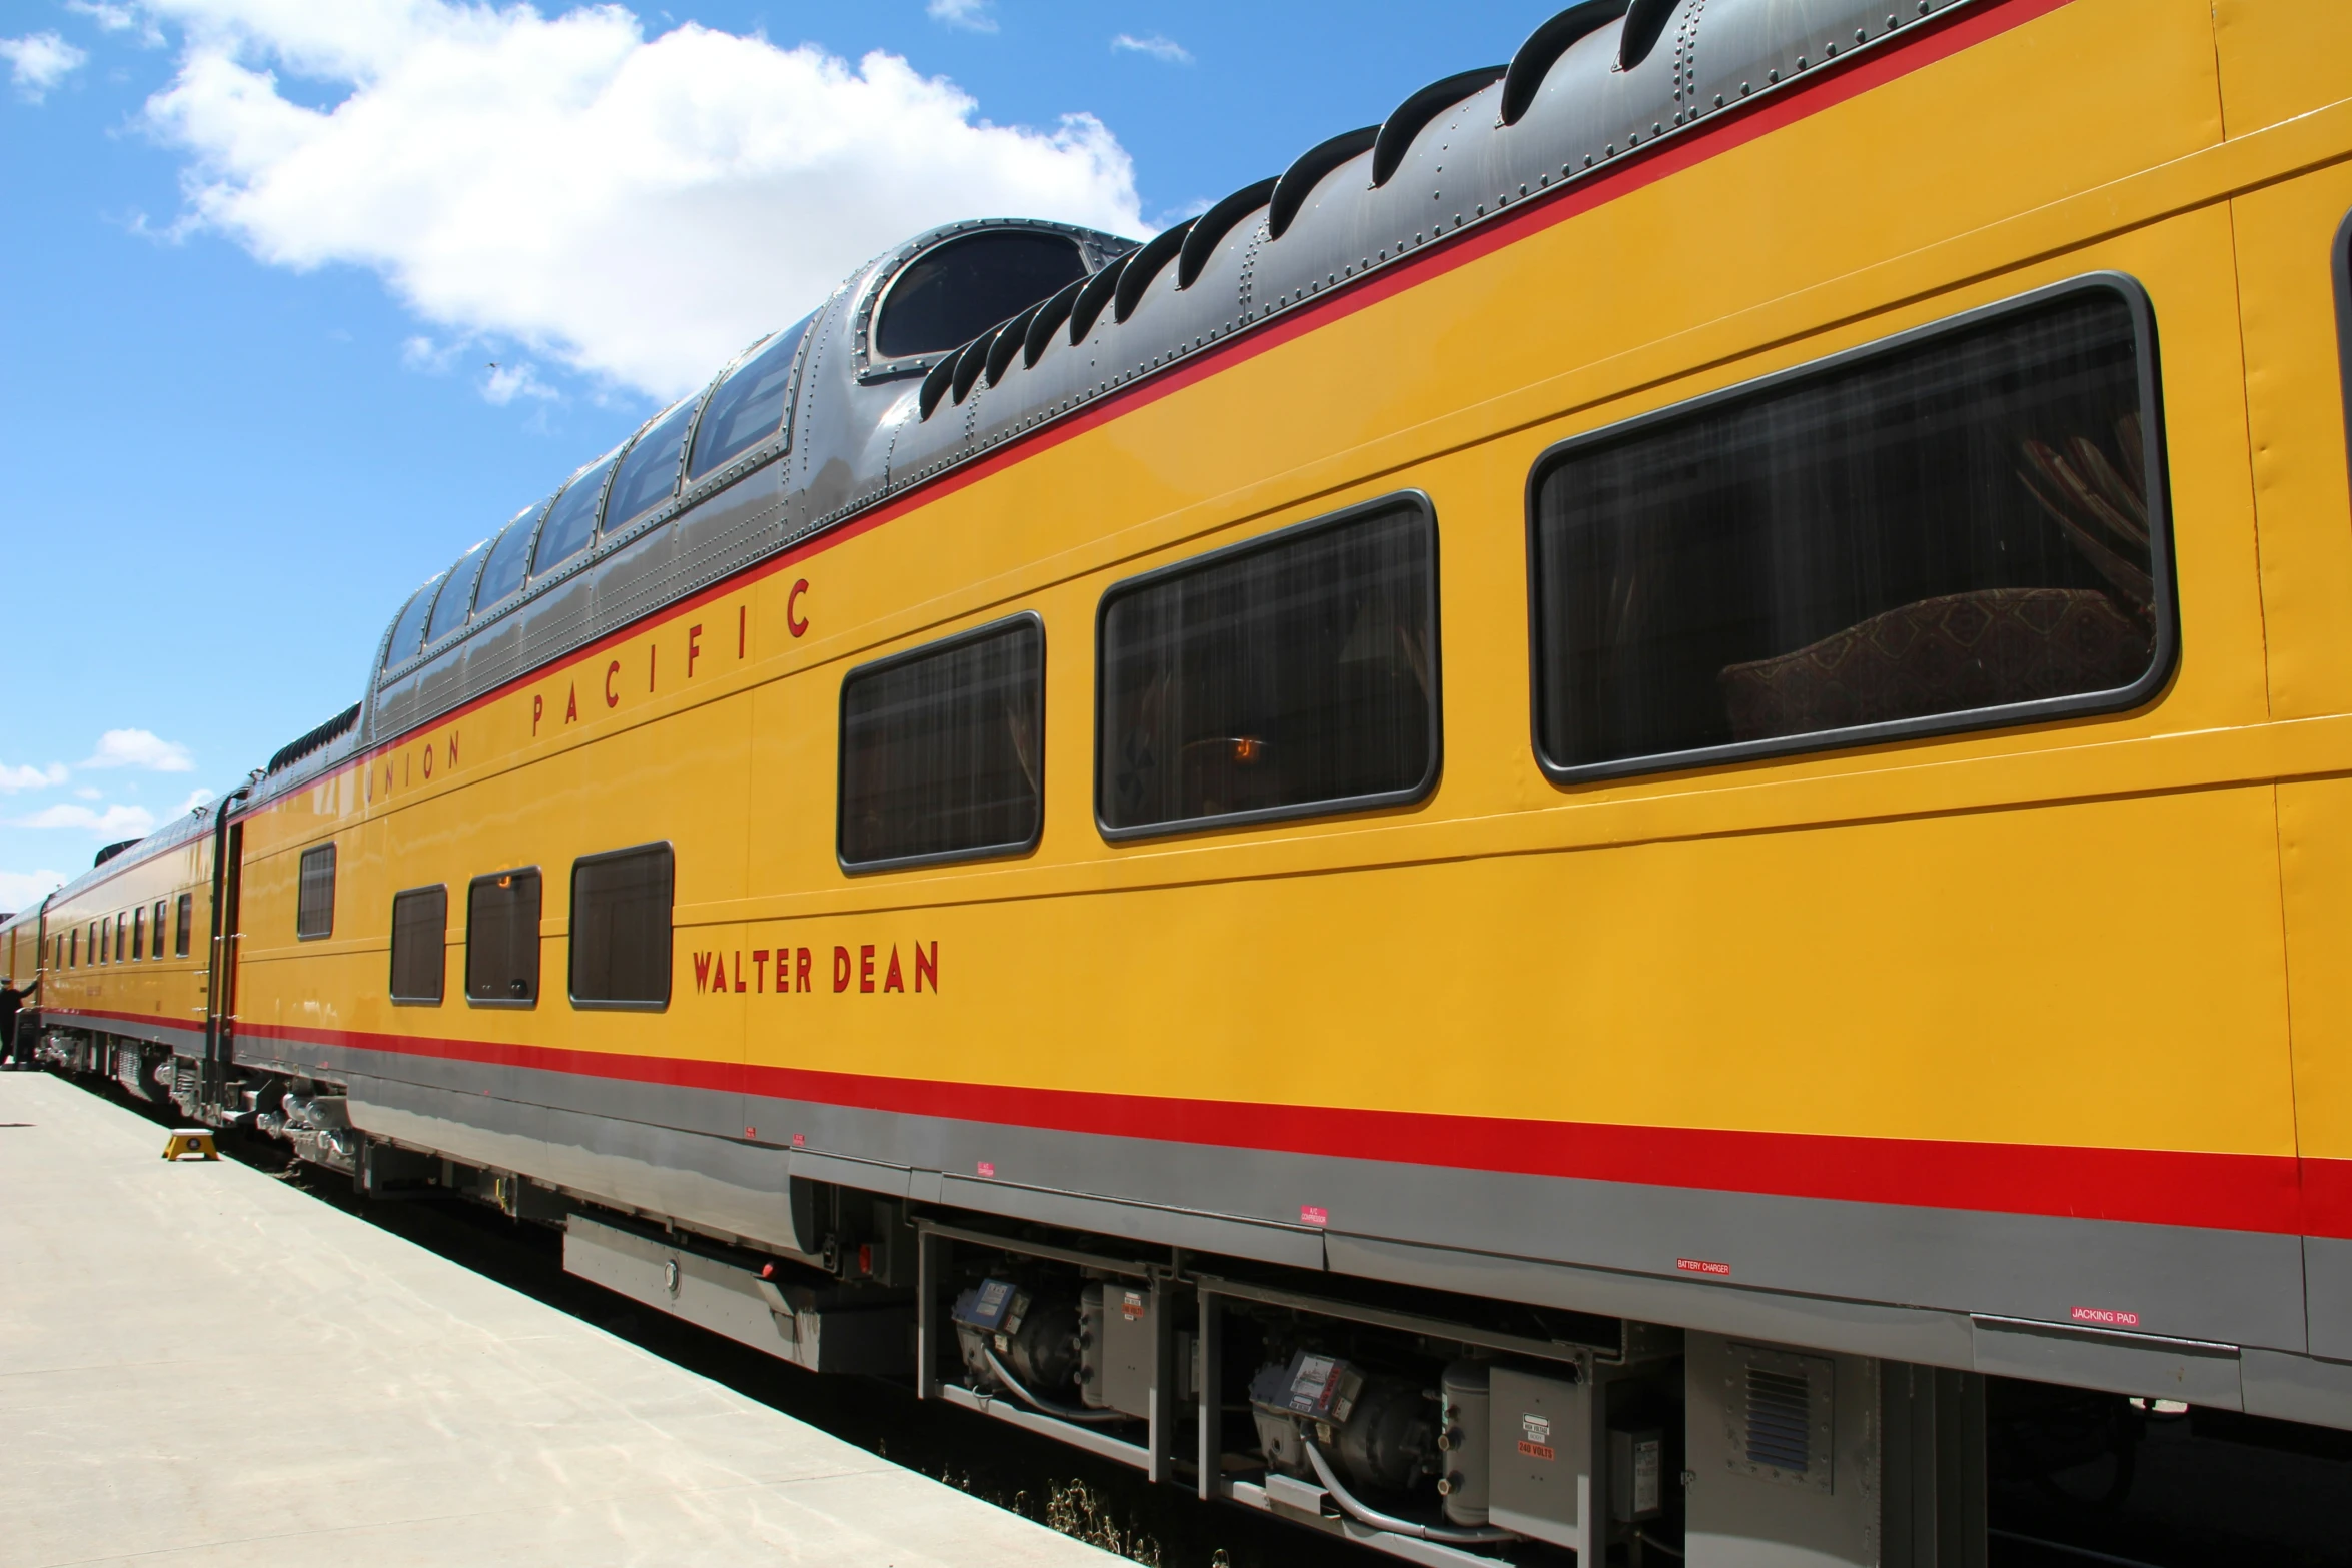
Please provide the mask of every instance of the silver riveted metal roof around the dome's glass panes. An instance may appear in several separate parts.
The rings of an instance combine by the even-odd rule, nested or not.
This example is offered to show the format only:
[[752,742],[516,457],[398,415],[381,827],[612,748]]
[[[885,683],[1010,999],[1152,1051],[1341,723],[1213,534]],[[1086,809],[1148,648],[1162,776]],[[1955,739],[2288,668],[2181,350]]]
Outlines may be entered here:
[[[1435,82],[1381,127],[1310,148],[1284,174],[1143,247],[1028,219],[922,233],[818,306],[776,437],[388,670],[386,628],[353,733],[266,778],[256,799],[1232,334],[1978,2],[1585,0],[1538,28],[1508,68]],[[1065,310],[1018,343],[983,334],[969,355],[877,360],[868,329],[891,280],[948,240],[997,228],[1077,242],[1091,284],[1075,317]],[[1037,313],[1021,324],[1040,327]]]

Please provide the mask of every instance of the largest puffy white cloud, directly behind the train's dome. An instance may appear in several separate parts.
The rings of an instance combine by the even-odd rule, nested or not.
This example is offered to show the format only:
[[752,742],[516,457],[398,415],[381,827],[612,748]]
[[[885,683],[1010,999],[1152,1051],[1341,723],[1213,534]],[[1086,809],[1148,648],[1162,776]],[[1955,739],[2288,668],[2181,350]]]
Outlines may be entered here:
[[[1134,165],[1098,120],[990,125],[894,54],[851,66],[696,24],[647,40],[616,5],[148,9],[186,24],[179,75],[146,106],[191,158],[183,228],[275,266],[372,268],[447,334],[659,397],[934,223],[1141,228]],[[310,108],[280,71],[341,101]]]

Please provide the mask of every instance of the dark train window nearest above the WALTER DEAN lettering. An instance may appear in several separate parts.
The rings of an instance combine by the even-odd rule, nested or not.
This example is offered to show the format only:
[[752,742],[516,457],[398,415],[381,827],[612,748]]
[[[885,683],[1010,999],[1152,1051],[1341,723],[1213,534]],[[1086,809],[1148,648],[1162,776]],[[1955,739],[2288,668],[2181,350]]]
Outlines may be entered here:
[[842,677],[844,870],[1033,849],[1044,806],[1044,623],[1016,616]]

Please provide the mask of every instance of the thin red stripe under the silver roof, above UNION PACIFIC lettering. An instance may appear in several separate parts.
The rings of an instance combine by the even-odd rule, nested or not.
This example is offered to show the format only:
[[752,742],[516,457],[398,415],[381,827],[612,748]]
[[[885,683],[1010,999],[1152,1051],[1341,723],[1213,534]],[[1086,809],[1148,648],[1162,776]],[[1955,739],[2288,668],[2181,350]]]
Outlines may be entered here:
[[1766,99],[1752,106],[1733,103],[1731,108],[1717,110],[1717,115],[1708,120],[1703,129],[1670,136],[1665,139],[1663,146],[1658,146],[1656,153],[1628,153],[1613,165],[1602,165],[1602,169],[1595,169],[1583,179],[1564,183],[1559,190],[1526,197],[1519,212],[1510,219],[1482,221],[1475,228],[1458,230],[1458,237],[1432,240],[1428,247],[1416,252],[1411,261],[1399,261],[1357,282],[1341,284],[1329,294],[1324,294],[1317,303],[1287,310],[1284,315],[1261,327],[1244,327],[1242,331],[1225,339],[1216,348],[1195,353],[1155,376],[1134,381],[1124,390],[1110,393],[1087,404],[1084,409],[1070,414],[1068,418],[1042,425],[1030,435],[1007,442],[1002,449],[997,449],[985,458],[964,463],[950,473],[943,473],[936,480],[917,484],[915,489],[903,491],[901,496],[821,534],[818,538],[795,545],[793,550],[786,550],[783,555],[776,555],[771,559],[746,567],[734,576],[722,578],[687,599],[661,604],[659,609],[647,611],[637,621],[630,621],[628,625],[607,632],[597,642],[583,649],[574,649],[572,654],[564,654],[562,661],[550,661],[548,665],[541,665],[527,675],[517,675],[496,691],[477,696],[463,708],[440,715],[430,724],[419,724],[416,729],[409,729],[402,736],[376,745],[365,757],[346,762],[341,769],[336,769],[334,776],[348,773],[355,766],[365,766],[376,757],[381,757],[383,752],[407,745],[414,736],[421,736],[430,729],[440,729],[442,724],[454,724],[456,719],[463,719],[466,715],[477,712],[489,703],[496,703],[510,691],[539,679],[546,670],[555,668],[557,663],[595,658],[597,654],[604,654],[607,649],[635,637],[637,628],[642,628],[647,621],[654,621],[656,616],[689,614],[729,592],[739,592],[748,583],[757,583],[769,576],[776,576],[779,571],[788,571],[800,562],[823,555],[826,550],[847,545],[851,538],[858,538],[861,534],[880,529],[884,522],[906,517],[920,505],[931,505],[943,496],[953,496],[960,489],[967,489],[971,484],[978,484],[981,480],[1004,473],[1014,463],[1025,463],[1033,456],[1051,451],[1054,447],[1070,442],[1080,435],[1087,435],[1089,430],[1098,430],[1112,418],[1122,418],[1134,409],[1160,402],[1171,393],[1181,393],[1190,386],[1197,386],[1209,376],[1216,376],[1235,364],[1242,364],[1244,360],[1254,360],[1268,350],[1282,348],[1284,343],[1303,339],[1305,334],[1317,331],[1329,322],[1355,315],[1357,310],[1367,310],[1381,301],[1395,299],[1397,294],[1404,294],[1406,289],[1414,289],[1428,282],[1430,277],[1439,277],[1456,268],[1470,266],[1472,261],[1491,256],[1494,252],[1508,244],[1517,244],[1519,240],[1534,233],[1552,228],[1555,223],[1566,223],[1569,219],[1583,216],[1595,207],[1604,207],[1618,197],[1632,195],[1635,190],[1642,190],[1663,179],[1682,174],[1684,169],[1693,169],[1722,153],[1743,148],[1750,141],[1769,136],[1771,132],[1778,132],[1783,127],[1797,125],[1799,120],[1818,115],[1828,108],[1846,103],[1849,99],[1856,99],[1875,87],[1884,87],[1886,82],[1900,80],[1912,71],[1922,71],[1926,66],[1933,66],[1936,61],[1971,49],[1990,38],[1999,38],[2002,33],[2025,26],[2027,21],[2034,21],[2039,16],[2046,16],[2049,12],[2056,12],[2067,2],[2070,0],[1992,0],[1990,5],[1964,9],[1959,14],[1945,12],[1940,16],[1917,24],[1893,45],[1882,45],[1877,49],[1865,49],[1858,56],[1846,56],[1844,61],[1828,61],[1823,66],[1816,66],[1806,78],[1799,78],[1797,82],[1783,87],[1776,94],[1769,94]]

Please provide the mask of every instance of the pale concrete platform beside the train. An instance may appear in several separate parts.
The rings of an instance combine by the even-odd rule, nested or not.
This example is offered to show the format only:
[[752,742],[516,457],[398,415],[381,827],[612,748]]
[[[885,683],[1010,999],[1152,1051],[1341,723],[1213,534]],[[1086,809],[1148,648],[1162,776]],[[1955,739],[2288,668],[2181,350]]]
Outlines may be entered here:
[[1105,1554],[0,1074],[0,1566]]

